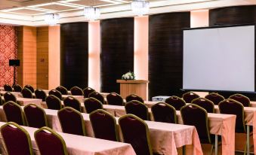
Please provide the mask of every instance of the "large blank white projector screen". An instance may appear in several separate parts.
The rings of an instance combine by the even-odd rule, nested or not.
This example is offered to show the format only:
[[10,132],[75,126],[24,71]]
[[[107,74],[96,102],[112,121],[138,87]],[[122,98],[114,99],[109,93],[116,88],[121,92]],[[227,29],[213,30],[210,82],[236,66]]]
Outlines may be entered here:
[[184,29],[183,89],[254,92],[254,29]]

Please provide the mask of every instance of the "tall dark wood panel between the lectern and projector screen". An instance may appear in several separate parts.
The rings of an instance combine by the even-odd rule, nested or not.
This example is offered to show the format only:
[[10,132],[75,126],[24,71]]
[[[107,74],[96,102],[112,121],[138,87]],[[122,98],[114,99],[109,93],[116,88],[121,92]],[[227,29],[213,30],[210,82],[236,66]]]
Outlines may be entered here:
[[156,14],[149,23],[149,90],[153,96],[180,96],[183,71],[183,28],[190,12]]

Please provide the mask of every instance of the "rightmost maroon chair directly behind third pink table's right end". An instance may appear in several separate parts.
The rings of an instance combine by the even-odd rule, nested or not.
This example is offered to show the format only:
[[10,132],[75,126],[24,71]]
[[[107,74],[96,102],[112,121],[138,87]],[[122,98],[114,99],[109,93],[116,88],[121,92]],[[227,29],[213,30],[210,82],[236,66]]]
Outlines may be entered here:
[[221,114],[236,115],[236,132],[245,133],[245,114],[242,103],[233,99],[225,99],[219,103]]

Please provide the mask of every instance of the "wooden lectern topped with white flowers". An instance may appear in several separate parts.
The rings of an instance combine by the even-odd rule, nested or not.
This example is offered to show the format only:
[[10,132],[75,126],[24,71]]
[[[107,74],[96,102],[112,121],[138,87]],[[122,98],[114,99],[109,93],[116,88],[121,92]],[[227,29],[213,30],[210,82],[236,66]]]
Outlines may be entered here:
[[147,101],[147,84],[149,81],[143,80],[116,80],[117,83],[120,83],[120,95],[123,99],[131,93],[137,94],[143,100]]

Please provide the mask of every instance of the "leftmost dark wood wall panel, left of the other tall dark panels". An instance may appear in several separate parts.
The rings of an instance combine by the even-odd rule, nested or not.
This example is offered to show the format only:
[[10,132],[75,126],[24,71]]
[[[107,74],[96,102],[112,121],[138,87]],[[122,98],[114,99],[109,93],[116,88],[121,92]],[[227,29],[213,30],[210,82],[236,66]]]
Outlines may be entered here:
[[88,23],[60,26],[60,84],[88,87]]

